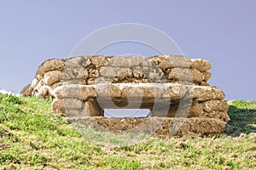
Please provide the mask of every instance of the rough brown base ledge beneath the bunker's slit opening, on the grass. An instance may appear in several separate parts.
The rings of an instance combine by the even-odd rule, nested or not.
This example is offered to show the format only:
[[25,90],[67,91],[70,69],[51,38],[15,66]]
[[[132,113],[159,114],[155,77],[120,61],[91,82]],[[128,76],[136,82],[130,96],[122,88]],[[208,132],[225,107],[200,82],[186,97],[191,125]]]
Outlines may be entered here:
[[[163,138],[199,136],[212,137],[224,132],[226,122],[211,118],[173,118],[173,117],[147,117],[147,118],[106,118],[102,116],[88,116],[78,119],[96,131],[110,133],[129,133],[137,136],[143,133]],[[176,129],[176,127],[179,127]]]

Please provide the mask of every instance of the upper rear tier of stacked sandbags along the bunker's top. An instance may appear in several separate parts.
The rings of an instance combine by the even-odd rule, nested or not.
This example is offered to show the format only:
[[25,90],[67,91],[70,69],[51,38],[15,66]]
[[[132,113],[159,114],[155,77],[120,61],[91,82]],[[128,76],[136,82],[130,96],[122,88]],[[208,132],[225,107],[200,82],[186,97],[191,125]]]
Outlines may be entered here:
[[208,72],[211,67],[207,60],[176,55],[49,59],[38,68],[36,77],[22,94],[49,98],[51,90],[63,82],[83,85],[98,82],[182,82],[208,86],[207,81],[212,77]]

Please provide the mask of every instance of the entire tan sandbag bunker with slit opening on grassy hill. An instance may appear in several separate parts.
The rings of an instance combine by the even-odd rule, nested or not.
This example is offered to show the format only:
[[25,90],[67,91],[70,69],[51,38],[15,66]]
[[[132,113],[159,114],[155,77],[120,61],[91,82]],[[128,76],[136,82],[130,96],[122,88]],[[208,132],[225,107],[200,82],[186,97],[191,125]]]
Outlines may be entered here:
[[[185,56],[81,56],[49,59],[23,96],[52,98],[54,111],[87,125],[163,137],[213,136],[224,132],[229,106],[207,82],[210,62]],[[104,109],[148,109],[148,117],[104,117]],[[94,123],[92,123],[94,122]],[[154,122],[159,126],[153,130]],[[172,131],[174,124],[178,129]],[[92,125],[94,126],[94,125]],[[151,130],[150,130],[151,129]]]

